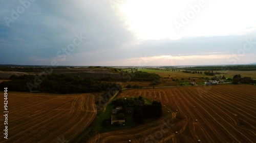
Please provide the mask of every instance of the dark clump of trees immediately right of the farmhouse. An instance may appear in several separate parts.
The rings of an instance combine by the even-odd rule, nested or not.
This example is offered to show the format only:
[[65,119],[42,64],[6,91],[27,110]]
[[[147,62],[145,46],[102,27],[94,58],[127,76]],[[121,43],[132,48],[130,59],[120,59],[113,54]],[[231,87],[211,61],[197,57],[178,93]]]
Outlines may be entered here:
[[[144,99],[139,96],[141,102]],[[143,123],[144,119],[157,118],[162,116],[162,104],[158,101],[153,101],[151,105],[137,104],[134,108],[133,119],[136,123]]]

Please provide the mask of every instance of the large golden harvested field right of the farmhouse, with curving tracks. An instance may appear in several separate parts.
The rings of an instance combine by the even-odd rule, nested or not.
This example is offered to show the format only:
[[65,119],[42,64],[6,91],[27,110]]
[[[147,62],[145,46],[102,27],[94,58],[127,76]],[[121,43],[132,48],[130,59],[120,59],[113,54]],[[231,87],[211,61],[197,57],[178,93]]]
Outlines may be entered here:
[[254,85],[125,90],[119,97],[139,95],[161,101],[162,118],[98,133],[88,142],[256,142]]

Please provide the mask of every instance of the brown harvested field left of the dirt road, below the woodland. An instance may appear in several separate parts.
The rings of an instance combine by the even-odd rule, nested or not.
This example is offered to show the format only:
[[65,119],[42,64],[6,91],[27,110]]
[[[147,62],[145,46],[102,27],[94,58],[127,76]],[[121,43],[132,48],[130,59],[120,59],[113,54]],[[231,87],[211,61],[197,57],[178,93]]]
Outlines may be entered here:
[[[4,93],[1,94],[0,102],[4,103]],[[92,94],[8,92],[8,139],[1,133],[0,142],[70,141],[94,120],[97,113],[94,103]]]

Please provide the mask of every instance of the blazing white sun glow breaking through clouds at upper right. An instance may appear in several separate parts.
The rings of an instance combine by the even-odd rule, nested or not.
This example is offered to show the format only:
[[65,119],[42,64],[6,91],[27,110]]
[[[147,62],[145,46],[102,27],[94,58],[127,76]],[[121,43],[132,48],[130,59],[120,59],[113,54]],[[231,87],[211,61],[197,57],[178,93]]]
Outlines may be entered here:
[[[191,7],[200,6],[198,13],[182,23]],[[129,0],[120,7],[130,29],[140,39],[179,39],[187,36],[225,36],[245,34],[246,28],[256,30],[253,1],[150,1]],[[183,24],[177,30],[175,21]]]

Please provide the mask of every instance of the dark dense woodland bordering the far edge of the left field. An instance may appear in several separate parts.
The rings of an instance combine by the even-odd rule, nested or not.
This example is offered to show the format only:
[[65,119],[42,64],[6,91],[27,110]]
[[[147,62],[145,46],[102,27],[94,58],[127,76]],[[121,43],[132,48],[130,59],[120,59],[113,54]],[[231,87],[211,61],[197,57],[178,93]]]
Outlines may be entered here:
[[[8,87],[10,91],[30,92],[30,87],[33,87],[32,91],[34,92],[61,94],[101,92],[113,87],[121,89],[121,85],[117,83],[100,81],[91,77],[81,78],[79,76],[65,74],[48,74],[44,76],[12,75],[10,79],[11,81],[1,82],[0,88]],[[40,84],[34,84],[35,79]]]

